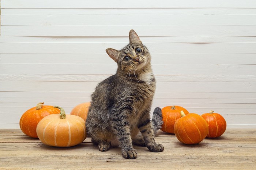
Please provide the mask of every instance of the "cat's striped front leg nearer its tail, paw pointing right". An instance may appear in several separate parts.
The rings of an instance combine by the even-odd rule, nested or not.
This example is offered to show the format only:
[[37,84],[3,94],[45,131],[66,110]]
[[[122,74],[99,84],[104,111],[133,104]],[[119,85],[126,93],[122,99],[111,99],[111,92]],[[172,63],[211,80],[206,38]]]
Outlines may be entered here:
[[153,131],[153,127],[150,120],[149,110],[144,111],[144,114],[142,116],[142,121],[138,125],[138,128],[142,134],[142,137],[144,139],[144,142],[147,146],[147,148],[152,152],[162,152],[163,151],[163,145],[157,144],[155,142],[155,135]]

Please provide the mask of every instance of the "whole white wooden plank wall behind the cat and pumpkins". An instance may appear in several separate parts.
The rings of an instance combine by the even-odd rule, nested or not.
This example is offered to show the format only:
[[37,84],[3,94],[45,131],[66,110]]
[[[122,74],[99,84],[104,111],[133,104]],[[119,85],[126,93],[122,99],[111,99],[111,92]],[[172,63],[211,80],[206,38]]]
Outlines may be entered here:
[[1,0],[0,128],[39,102],[66,112],[113,75],[134,29],[152,55],[153,107],[256,128],[255,0]]

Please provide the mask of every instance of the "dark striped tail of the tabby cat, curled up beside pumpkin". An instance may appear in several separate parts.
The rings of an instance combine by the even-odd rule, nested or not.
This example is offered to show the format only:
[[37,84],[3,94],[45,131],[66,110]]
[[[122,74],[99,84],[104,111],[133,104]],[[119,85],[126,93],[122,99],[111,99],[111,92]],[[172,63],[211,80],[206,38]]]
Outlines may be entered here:
[[153,125],[154,135],[156,135],[157,131],[162,128],[163,124],[162,110],[160,107],[155,108],[151,122]]

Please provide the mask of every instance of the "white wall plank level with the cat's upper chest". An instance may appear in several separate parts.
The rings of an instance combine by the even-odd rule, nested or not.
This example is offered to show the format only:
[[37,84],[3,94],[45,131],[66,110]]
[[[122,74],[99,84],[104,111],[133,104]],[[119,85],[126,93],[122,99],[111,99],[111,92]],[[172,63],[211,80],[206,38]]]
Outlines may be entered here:
[[[85,91],[93,92],[97,82],[0,82],[0,91]],[[74,88],[75,87],[75,88]],[[172,87],[166,89],[165,87]],[[232,87],[232,88],[230,88]],[[241,88],[243,87],[243,88]],[[161,82],[157,92],[256,92],[256,82]]]

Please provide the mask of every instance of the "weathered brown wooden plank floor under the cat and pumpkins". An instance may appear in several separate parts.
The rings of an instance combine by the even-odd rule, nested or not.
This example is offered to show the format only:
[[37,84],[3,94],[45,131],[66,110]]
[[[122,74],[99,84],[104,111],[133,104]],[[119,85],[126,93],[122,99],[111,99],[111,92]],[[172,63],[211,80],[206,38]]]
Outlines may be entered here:
[[217,139],[184,145],[160,132],[165,150],[152,153],[134,146],[137,159],[124,159],[120,149],[100,152],[87,138],[69,148],[50,147],[20,130],[0,130],[0,169],[256,169],[256,130],[227,129]]

